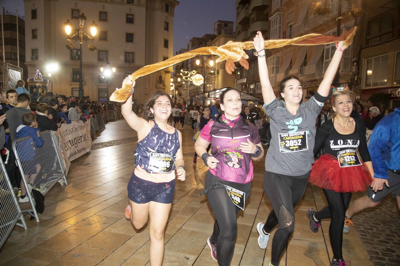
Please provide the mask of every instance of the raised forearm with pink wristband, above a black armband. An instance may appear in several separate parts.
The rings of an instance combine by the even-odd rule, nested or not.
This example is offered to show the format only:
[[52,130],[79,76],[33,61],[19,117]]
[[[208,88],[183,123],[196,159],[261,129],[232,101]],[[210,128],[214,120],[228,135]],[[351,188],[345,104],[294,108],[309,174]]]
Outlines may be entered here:
[[343,52],[345,50],[343,41],[340,41],[336,46],[336,51],[330,61],[328,68],[325,71],[324,79],[322,79],[320,86],[318,87],[318,94],[327,97],[329,95],[330,87],[333,79],[335,78],[336,71],[338,70],[340,60],[342,59]]

